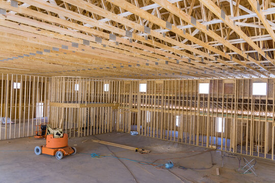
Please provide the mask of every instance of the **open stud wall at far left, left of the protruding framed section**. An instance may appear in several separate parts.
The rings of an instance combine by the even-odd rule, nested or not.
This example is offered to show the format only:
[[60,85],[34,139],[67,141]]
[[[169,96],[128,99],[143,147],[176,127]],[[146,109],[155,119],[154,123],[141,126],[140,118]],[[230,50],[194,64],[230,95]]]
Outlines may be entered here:
[[0,140],[33,136],[47,121],[48,77],[0,74]]

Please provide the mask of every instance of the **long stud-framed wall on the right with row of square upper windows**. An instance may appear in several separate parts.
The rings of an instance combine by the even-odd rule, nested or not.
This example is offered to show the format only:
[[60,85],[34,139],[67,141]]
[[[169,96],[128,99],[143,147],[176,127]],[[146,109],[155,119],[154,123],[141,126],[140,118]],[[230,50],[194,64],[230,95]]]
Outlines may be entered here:
[[[267,95],[253,95],[253,82],[267,82]],[[273,159],[274,79],[123,81],[119,92],[118,131]]]

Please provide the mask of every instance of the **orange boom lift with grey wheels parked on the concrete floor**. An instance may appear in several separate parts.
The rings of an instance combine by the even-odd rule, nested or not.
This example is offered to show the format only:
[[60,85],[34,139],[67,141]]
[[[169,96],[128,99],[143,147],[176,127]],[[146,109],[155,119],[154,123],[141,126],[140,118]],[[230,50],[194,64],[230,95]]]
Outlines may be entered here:
[[49,125],[46,129],[46,145],[35,147],[36,155],[56,156],[58,160],[75,153],[76,148],[68,146],[68,134],[63,134],[62,129],[52,129]]

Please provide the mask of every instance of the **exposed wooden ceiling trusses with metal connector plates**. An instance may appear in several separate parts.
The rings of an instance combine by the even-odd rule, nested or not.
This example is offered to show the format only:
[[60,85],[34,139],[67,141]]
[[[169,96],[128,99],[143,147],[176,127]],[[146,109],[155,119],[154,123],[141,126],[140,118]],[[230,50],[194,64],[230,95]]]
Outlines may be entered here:
[[0,8],[3,73],[275,75],[274,0],[0,0]]

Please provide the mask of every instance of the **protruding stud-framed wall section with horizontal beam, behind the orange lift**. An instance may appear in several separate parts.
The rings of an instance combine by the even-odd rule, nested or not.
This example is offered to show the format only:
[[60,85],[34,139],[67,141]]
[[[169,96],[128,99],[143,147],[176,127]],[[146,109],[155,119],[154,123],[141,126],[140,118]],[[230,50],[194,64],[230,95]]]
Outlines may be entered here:
[[51,77],[50,124],[63,128],[70,137],[112,132],[118,113],[119,83],[82,77]]

